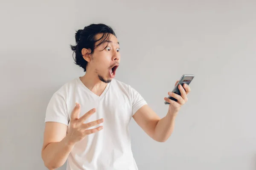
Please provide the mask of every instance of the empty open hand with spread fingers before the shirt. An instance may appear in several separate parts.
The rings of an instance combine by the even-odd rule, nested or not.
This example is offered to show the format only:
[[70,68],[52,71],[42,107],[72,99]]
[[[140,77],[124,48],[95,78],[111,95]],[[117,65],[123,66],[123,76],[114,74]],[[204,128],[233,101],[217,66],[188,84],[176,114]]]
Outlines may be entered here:
[[80,105],[76,103],[76,106],[73,109],[70,116],[70,129],[67,131],[67,139],[69,143],[75,144],[76,142],[79,142],[82,139],[84,139],[85,136],[90,135],[92,133],[96,133],[99,130],[103,129],[103,126],[99,126],[93,129],[88,129],[90,127],[99,125],[100,123],[103,122],[103,119],[99,119],[89,123],[84,123],[84,121],[88,119],[95,112],[96,112],[96,109],[93,108],[79,118]]

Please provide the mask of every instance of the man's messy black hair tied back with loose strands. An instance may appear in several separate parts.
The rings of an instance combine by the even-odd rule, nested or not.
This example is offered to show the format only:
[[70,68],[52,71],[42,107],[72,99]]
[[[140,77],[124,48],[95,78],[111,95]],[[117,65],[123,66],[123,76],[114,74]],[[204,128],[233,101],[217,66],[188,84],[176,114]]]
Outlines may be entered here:
[[[95,36],[99,33],[103,33],[103,35],[99,40],[96,40]],[[93,54],[94,49],[101,45],[104,41],[108,41],[111,34],[116,37],[113,29],[110,26],[102,23],[90,24],[89,26],[85,26],[84,29],[79,29],[78,31],[76,31],[76,45],[70,45],[73,51],[73,59],[75,60],[75,64],[79,65],[81,68],[84,69],[84,71],[86,71],[87,61],[83,58],[81,50],[83,48],[87,48],[91,50],[90,54]],[[101,42],[95,46],[95,43],[100,40]],[[74,53],[76,54],[75,58]]]

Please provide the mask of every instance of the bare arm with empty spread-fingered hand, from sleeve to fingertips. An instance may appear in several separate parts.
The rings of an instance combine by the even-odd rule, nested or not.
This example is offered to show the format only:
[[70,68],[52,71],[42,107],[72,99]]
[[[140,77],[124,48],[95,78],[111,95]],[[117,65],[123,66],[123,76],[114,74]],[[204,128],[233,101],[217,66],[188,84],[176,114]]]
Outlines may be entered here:
[[88,128],[101,124],[103,119],[83,123],[95,112],[96,109],[93,108],[79,118],[80,105],[76,103],[76,107],[71,113],[70,130],[68,132],[67,125],[63,123],[46,122],[41,156],[49,170],[61,167],[77,142],[87,135],[102,130],[102,126],[93,129]]

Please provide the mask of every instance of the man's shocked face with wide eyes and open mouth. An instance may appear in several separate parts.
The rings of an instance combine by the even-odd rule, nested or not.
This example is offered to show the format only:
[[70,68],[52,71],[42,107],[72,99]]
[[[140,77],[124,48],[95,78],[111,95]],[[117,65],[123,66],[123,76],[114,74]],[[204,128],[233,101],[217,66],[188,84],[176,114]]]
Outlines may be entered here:
[[[116,75],[116,68],[120,62],[119,42],[113,35],[109,35],[109,41],[102,43],[100,46],[94,49],[91,56],[89,69],[98,75],[102,82],[111,82]],[[102,34],[96,35],[96,40],[99,40]],[[102,38],[104,40],[104,38]],[[102,40],[96,42],[95,46],[98,45]]]

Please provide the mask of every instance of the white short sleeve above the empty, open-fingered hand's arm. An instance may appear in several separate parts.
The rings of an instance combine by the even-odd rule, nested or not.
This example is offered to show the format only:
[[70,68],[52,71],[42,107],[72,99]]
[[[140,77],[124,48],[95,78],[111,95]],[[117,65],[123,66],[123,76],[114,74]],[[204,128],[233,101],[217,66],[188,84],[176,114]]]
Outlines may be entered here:
[[55,93],[46,109],[45,122],[59,122],[68,125],[67,104],[61,94]]

